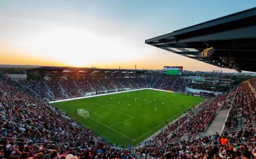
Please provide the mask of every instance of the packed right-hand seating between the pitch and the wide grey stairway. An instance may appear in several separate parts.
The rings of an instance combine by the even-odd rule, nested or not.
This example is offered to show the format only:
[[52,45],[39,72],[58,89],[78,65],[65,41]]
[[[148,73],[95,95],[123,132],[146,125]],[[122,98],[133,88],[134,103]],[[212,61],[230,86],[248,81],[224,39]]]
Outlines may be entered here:
[[208,98],[197,107],[189,108],[187,114],[168,124],[166,129],[155,135],[153,140],[149,142],[162,146],[162,144],[168,142],[178,141],[184,134],[191,134],[192,136],[201,134],[215,119],[215,116],[222,107],[220,103],[226,100],[227,95],[223,94]]

